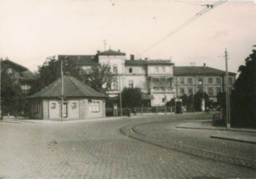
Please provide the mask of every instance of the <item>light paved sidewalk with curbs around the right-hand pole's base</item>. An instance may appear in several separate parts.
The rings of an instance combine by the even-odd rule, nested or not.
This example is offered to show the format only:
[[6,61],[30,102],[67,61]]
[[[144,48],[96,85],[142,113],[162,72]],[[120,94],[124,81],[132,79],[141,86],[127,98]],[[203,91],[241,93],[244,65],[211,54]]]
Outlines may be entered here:
[[211,135],[211,138],[240,141],[244,143],[256,143],[255,129],[226,129],[225,127],[213,127],[211,124],[211,120],[205,120],[204,122],[187,122],[183,124],[178,124],[176,128],[226,131],[225,134]]

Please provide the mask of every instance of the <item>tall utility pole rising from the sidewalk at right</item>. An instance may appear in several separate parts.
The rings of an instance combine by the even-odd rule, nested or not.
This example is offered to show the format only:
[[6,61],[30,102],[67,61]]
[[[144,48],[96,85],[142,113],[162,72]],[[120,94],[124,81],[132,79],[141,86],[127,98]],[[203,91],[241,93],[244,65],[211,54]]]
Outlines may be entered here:
[[226,122],[227,129],[230,129],[230,103],[229,103],[229,72],[227,70],[227,48],[225,49],[225,64],[226,64]]

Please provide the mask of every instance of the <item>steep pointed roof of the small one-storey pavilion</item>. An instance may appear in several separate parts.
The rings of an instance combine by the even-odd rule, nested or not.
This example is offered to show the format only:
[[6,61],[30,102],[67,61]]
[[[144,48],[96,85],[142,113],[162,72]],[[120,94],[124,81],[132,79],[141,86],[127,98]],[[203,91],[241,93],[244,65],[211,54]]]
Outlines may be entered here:
[[[93,90],[88,85],[76,80],[70,75],[63,78],[64,81],[64,96],[65,97],[97,97],[106,98],[105,94]],[[48,98],[59,97],[62,95],[62,78],[55,80],[52,84],[45,87],[43,90],[36,92],[29,98]]]

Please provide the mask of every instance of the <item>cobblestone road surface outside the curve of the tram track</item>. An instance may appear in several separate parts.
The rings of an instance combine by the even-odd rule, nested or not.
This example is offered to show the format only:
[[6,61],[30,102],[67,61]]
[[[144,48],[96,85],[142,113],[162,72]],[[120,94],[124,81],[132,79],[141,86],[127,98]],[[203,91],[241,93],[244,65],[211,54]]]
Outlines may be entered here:
[[[0,122],[0,178],[256,177],[253,169],[186,155],[120,133],[120,128],[129,124],[150,123],[160,118],[181,122],[186,117],[190,116],[66,124]],[[183,134],[173,131],[176,132],[176,136]],[[215,140],[218,139],[210,141]]]

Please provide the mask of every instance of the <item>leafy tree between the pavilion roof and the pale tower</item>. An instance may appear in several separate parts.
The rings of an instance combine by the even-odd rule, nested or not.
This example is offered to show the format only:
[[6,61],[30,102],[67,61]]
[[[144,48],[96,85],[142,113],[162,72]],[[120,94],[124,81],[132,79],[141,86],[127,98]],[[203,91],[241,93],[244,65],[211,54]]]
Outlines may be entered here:
[[115,85],[116,90],[119,88],[117,78],[111,72],[111,67],[108,64],[100,64],[99,66],[92,66],[90,69],[82,70],[79,78],[83,83],[90,85],[98,92],[111,90],[111,85]]

